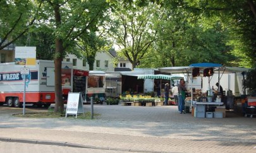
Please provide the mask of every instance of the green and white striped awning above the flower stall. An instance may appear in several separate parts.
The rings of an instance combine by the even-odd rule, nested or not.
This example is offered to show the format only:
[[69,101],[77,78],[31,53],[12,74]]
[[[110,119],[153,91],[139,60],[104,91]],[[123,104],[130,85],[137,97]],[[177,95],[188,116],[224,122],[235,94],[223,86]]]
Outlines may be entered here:
[[184,77],[181,76],[171,76],[165,74],[146,74],[146,75],[139,75],[138,79],[163,79],[163,80],[173,80],[173,79],[183,79]]

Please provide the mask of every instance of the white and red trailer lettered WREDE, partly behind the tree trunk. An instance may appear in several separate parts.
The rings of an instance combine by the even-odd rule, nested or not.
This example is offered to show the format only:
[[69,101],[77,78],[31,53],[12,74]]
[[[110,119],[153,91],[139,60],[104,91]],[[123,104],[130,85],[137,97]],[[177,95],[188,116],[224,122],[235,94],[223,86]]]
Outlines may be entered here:
[[[67,98],[72,90],[72,62],[62,63],[63,96]],[[26,103],[37,106],[50,106],[54,103],[54,62],[49,60],[36,60],[35,67],[29,67],[26,75]],[[24,79],[20,74],[20,67],[14,62],[0,64],[0,104],[20,107],[23,103]]]

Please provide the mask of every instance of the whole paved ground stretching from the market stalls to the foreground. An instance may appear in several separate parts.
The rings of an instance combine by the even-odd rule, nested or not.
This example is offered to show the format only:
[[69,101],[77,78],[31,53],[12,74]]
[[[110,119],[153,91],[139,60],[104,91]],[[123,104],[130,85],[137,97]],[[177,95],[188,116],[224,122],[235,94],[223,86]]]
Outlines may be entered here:
[[[46,110],[26,110],[34,111]],[[12,113],[22,109],[0,107],[0,149],[28,142],[38,151],[51,144],[47,147],[90,152],[256,152],[256,118],[233,112],[227,118],[194,118],[178,113],[176,106],[95,105],[94,113],[101,114],[95,120],[16,118]]]

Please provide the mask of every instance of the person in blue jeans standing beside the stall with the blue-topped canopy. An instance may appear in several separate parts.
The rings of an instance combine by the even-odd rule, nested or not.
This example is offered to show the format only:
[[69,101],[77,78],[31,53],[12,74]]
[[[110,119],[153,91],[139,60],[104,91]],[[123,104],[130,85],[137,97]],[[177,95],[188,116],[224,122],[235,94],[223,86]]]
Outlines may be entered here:
[[184,79],[180,79],[180,84],[178,86],[179,89],[179,96],[178,96],[178,111],[179,113],[183,113],[185,107],[185,98],[186,98],[186,87]]

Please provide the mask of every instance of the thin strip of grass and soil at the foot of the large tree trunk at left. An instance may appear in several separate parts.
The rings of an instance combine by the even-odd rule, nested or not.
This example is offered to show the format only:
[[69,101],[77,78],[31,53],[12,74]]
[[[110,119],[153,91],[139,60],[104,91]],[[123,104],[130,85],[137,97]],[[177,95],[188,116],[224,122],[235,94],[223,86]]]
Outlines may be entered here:
[[[54,111],[47,111],[47,112],[38,112],[38,113],[25,113],[23,115],[22,113],[20,114],[14,114],[13,116],[16,117],[22,117],[22,118],[65,118],[66,113],[61,114],[61,113],[55,113]],[[68,115],[67,118],[75,118],[76,115]],[[100,114],[94,113],[94,118],[97,118],[101,116]],[[85,112],[85,116],[83,114],[78,114],[77,118],[83,119],[83,120],[90,120],[90,111]]]

